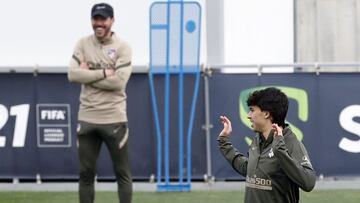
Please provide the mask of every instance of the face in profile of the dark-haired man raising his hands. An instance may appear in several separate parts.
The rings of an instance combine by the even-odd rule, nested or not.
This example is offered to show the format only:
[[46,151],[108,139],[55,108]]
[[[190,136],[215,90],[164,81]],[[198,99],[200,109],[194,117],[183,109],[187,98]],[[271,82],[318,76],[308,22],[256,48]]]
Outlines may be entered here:
[[250,111],[247,115],[247,118],[251,122],[251,127],[255,132],[263,133],[265,131],[265,126],[269,122],[269,113],[266,111],[261,111],[258,106],[250,106]]

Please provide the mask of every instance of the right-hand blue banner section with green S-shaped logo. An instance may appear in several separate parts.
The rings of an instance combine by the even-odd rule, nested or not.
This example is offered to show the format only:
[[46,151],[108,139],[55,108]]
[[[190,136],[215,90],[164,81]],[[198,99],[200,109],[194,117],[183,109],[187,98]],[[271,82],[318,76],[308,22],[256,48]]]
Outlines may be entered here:
[[[275,86],[289,97],[287,122],[305,144],[317,174],[358,176],[360,174],[360,88],[359,74],[296,73],[257,75],[215,74],[210,81],[213,132],[220,132],[218,118],[227,115],[233,123],[233,144],[246,154],[254,132],[241,111],[248,93]],[[249,91],[250,90],[250,91]],[[214,98],[215,97],[215,98]],[[214,142],[212,148],[215,149]],[[214,151],[215,177],[238,178],[221,155]]]

